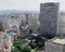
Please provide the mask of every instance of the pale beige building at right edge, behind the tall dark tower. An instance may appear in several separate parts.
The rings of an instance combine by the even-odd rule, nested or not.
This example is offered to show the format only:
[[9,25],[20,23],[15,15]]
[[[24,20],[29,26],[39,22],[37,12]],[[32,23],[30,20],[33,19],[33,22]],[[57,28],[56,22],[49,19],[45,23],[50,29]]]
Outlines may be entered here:
[[61,15],[60,15],[58,34],[62,36],[65,35],[65,13],[64,12],[61,12]]

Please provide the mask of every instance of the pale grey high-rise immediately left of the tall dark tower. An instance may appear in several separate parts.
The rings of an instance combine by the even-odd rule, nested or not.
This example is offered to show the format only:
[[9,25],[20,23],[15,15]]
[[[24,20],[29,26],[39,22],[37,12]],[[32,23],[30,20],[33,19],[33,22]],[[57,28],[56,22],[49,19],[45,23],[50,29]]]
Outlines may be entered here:
[[37,32],[39,28],[39,20],[38,20],[38,13],[32,13],[31,14],[31,30],[32,32]]

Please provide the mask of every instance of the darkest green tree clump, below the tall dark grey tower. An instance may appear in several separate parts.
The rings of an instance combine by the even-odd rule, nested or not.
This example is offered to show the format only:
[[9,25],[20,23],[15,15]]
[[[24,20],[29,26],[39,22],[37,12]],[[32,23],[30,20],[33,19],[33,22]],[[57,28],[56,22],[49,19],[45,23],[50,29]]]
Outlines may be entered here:
[[[44,46],[44,39],[42,39],[40,36],[36,36],[36,37],[34,37],[34,36],[30,36],[29,37],[30,38],[30,42],[29,42],[29,46],[31,47],[31,49],[35,49],[35,48],[41,48],[41,47],[43,47]],[[35,41],[32,41],[32,39],[35,39]]]

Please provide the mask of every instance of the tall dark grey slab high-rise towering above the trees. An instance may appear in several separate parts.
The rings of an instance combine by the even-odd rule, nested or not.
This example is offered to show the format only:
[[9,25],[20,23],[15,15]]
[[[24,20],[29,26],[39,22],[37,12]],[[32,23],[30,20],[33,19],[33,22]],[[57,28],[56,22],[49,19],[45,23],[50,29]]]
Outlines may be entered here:
[[58,35],[58,2],[40,4],[40,34],[44,36]]

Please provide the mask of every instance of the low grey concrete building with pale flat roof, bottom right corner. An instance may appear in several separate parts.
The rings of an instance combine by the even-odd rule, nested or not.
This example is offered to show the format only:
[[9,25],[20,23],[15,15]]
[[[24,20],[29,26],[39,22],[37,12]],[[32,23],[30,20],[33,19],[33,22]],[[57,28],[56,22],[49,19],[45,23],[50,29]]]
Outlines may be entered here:
[[50,39],[44,43],[44,52],[65,52],[65,38]]

